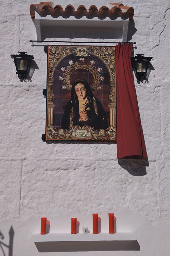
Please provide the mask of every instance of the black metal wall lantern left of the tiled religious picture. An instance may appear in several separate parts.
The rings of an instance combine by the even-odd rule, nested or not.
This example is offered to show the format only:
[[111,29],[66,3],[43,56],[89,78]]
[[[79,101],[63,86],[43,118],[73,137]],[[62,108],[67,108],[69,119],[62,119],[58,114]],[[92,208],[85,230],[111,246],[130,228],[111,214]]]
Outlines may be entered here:
[[20,80],[26,79],[30,68],[31,59],[34,59],[33,55],[28,55],[27,52],[18,52],[18,55],[11,54],[11,58],[14,59],[16,74]]

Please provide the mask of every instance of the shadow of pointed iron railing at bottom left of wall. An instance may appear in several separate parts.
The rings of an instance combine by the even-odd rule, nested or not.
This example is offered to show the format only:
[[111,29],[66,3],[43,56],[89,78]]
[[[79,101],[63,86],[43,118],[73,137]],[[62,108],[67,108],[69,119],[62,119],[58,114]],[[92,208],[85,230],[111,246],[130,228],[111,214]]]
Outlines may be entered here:
[[[14,229],[11,226],[10,231],[9,231],[9,245],[3,243],[2,241],[0,241],[0,251],[2,251],[2,255],[3,256],[13,256],[13,239],[14,239]],[[0,239],[3,240],[4,236],[0,231]],[[4,248],[8,248],[8,254],[5,254]],[[0,254],[1,255],[1,254]]]

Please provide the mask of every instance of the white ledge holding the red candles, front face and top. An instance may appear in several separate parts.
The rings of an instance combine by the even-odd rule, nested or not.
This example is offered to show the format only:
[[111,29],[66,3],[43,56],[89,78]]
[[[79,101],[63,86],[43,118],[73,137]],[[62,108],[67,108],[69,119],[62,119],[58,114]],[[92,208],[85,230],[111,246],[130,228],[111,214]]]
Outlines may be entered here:
[[64,241],[136,241],[134,233],[99,233],[99,234],[70,234],[48,233],[45,235],[32,234],[31,242],[64,242]]

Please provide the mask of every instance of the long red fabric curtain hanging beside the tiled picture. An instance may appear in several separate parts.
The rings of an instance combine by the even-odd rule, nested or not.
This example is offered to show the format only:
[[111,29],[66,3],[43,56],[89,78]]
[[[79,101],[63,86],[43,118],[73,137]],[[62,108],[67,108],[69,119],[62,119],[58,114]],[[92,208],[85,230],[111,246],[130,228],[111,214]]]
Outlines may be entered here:
[[132,74],[132,46],[116,45],[117,158],[147,157]]

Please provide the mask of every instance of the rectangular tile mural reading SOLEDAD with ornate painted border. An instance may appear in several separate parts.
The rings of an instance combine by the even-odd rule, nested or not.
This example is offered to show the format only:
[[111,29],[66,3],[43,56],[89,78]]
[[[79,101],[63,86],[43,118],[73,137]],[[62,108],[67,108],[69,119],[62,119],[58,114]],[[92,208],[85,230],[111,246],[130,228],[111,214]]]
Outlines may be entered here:
[[48,46],[45,140],[116,140],[115,47]]

